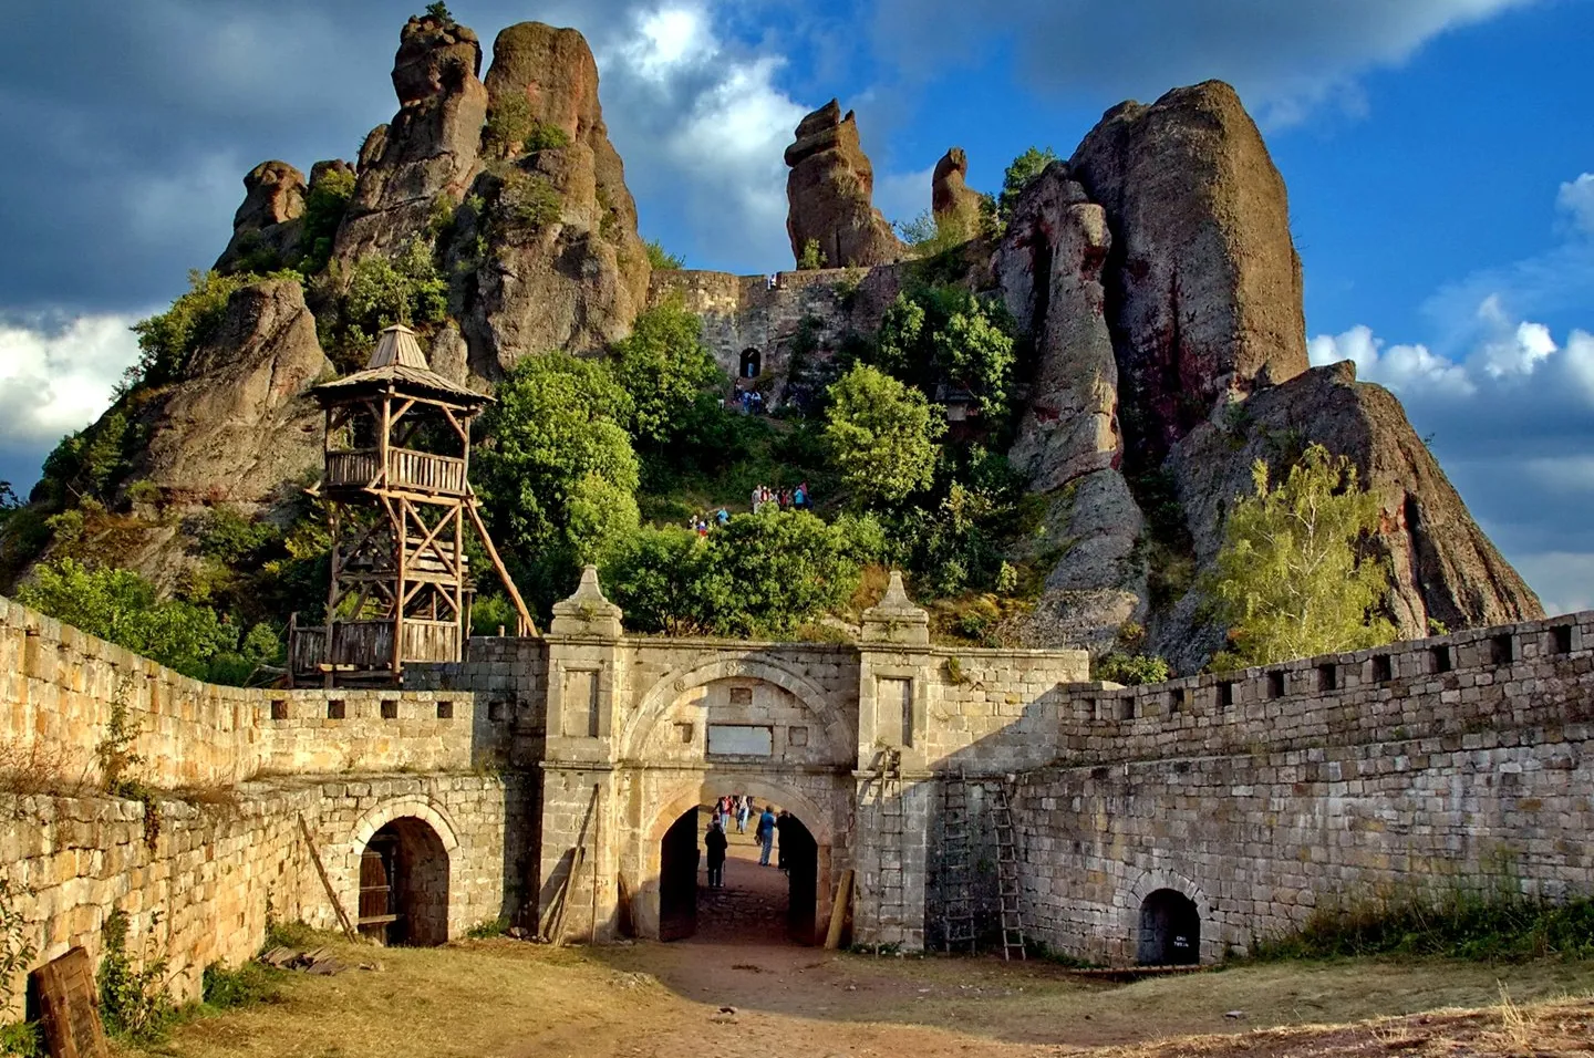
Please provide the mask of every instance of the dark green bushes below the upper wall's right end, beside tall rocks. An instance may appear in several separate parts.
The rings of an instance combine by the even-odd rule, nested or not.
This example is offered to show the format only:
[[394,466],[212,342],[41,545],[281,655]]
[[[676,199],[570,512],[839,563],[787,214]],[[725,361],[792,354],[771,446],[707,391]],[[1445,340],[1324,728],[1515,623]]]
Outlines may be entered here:
[[964,389],[980,413],[998,422],[1007,411],[1017,360],[1012,323],[998,303],[961,287],[899,293],[869,359],[925,394],[934,394],[937,384]]

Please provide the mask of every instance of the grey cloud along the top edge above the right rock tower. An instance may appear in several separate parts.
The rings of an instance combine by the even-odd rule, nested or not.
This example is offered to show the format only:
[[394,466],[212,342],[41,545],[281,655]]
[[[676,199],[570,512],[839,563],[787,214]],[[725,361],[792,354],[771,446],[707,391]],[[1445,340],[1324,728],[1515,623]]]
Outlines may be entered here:
[[1535,2],[880,0],[874,41],[910,76],[977,64],[1006,46],[1031,86],[1111,102],[1216,76],[1277,127],[1323,105],[1358,115],[1368,105],[1361,73]]

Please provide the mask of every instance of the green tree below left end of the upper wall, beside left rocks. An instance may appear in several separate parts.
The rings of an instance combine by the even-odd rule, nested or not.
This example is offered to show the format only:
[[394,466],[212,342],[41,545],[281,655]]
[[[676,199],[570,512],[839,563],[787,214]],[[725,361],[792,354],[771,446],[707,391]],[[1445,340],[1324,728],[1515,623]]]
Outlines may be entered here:
[[725,373],[703,344],[703,320],[679,301],[636,317],[614,346],[614,374],[631,400],[626,424],[639,448],[690,445],[706,421],[724,414]]

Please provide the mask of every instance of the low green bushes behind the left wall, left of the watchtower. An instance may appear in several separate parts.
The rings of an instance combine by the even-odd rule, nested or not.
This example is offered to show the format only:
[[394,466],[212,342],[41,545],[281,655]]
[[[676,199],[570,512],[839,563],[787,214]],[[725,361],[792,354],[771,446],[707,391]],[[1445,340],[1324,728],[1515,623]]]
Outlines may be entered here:
[[258,655],[245,652],[261,650],[265,636],[276,652],[276,634],[269,628],[265,633],[250,629],[241,647],[239,629],[223,623],[215,610],[161,599],[155,585],[131,569],[89,569],[62,558],[38,566],[33,574],[33,582],[18,590],[22,605],[194,679],[236,677],[234,655],[258,663]]

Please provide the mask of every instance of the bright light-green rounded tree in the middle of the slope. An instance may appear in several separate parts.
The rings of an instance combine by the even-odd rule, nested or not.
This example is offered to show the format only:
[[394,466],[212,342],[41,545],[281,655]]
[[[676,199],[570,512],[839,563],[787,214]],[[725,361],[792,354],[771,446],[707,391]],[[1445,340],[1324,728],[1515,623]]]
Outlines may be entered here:
[[824,440],[842,483],[861,504],[901,504],[929,488],[947,424],[921,392],[858,365],[829,397]]

